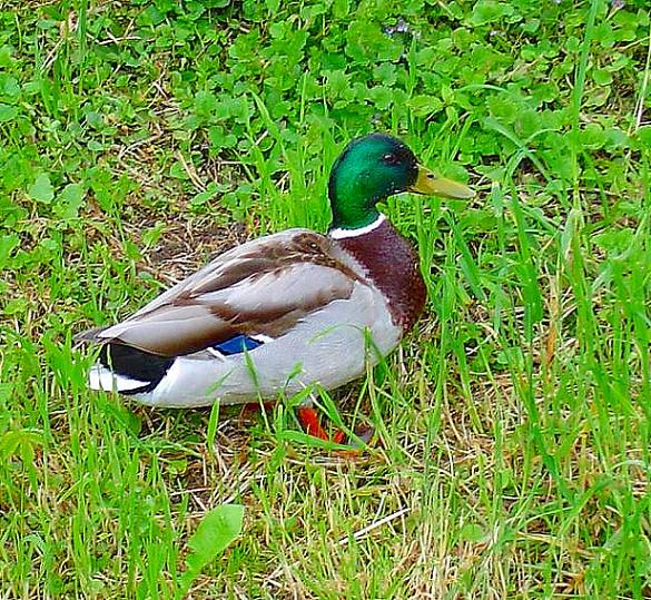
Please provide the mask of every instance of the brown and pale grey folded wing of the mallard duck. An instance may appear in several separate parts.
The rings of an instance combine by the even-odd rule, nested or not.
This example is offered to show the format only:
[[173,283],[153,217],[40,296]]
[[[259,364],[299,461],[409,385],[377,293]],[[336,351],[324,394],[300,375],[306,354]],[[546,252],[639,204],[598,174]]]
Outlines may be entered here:
[[237,334],[282,335],[308,313],[351,296],[357,276],[331,248],[329,238],[305,229],[249,242],[98,338],[178,356]]

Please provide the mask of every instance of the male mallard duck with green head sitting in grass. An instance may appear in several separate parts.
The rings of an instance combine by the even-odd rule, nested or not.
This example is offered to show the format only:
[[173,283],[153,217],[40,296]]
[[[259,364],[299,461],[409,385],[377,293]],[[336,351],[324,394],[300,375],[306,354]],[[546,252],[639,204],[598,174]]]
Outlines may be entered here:
[[[391,136],[357,138],[332,168],[326,235],[295,228],[247,242],[124,322],[82,334],[101,346],[89,386],[190,407],[362,376],[396,347],[426,299],[416,254],[376,207],[403,191],[474,196]],[[308,432],[324,436],[305,409]]]

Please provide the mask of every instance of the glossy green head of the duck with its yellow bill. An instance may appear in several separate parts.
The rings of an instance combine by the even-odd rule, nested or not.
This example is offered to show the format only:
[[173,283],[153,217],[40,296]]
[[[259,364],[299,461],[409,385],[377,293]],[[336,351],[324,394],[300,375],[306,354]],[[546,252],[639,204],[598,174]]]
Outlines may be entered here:
[[436,177],[418,165],[408,146],[384,134],[354,139],[335,160],[328,184],[333,228],[357,229],[378,216],[377,203],[414,191],[447,198],[472,198],[463,184]]

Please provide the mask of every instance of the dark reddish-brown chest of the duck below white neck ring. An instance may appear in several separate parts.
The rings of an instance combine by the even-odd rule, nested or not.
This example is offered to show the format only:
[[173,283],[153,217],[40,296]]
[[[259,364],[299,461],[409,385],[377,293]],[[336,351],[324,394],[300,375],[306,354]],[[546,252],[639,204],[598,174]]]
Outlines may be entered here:
[[337,242],[368,271],[373,283],[388,299],[394,323],[404,332],[411,329],[427,296],[418,257],[411,244],[388,220],[367,234]]

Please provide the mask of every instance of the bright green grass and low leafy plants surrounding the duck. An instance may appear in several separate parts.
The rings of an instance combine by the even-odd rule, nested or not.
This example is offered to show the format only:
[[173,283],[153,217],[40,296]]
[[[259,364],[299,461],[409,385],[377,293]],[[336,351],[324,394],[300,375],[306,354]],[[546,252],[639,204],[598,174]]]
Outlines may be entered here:
[[[649,36],[634,1],[6,2],[0,598],[178,597],[229,502],[191,598],[648,598]],[[428,309],[333,393],[381,443],[87,391],[75,333],[324,230],[374,129],[479,191],[384,207]]]

